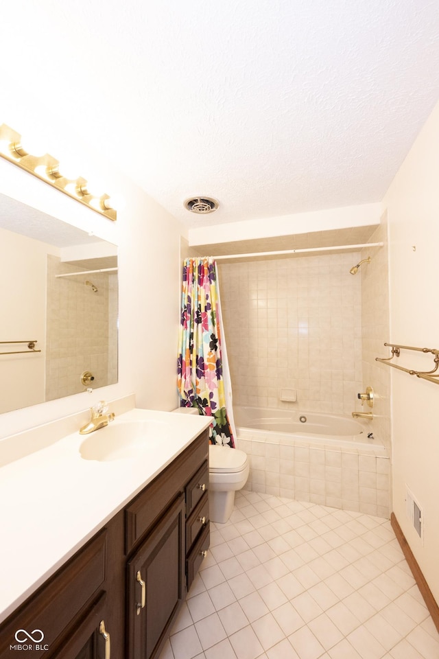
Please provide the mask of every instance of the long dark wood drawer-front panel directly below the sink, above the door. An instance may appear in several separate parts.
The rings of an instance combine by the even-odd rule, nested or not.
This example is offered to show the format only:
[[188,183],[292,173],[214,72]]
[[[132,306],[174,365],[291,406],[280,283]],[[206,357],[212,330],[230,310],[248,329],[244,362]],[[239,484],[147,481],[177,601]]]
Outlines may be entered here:
[[[183,492],[194,468],[209,455],[209,430],[193,440],[126,508],[126,553],[141,540],[177,494]],[[200,494],[203,493],[200,491]],[[199,497],[200,498],[200,497]]]

